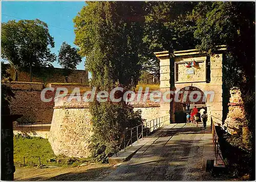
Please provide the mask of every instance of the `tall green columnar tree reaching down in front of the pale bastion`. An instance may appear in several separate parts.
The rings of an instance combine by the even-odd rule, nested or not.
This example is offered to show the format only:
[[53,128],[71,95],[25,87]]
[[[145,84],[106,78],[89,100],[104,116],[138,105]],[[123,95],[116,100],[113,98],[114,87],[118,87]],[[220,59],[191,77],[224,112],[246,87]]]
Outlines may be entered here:
[[[141,70],[143,2],[88,2],[75,17],[75,44],[86,56],[91,85],[110,91],[122,85],[135,89]],[[142,12],[143,13],[143,12]],[[142,120],[124,101],[91,103],[93,157],[105,161],[117,151],[126,127]]]

